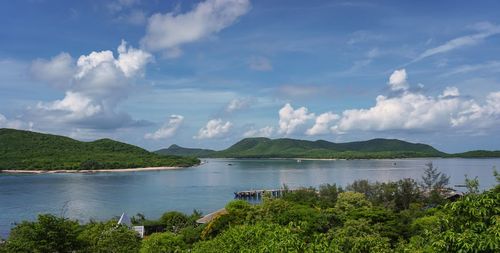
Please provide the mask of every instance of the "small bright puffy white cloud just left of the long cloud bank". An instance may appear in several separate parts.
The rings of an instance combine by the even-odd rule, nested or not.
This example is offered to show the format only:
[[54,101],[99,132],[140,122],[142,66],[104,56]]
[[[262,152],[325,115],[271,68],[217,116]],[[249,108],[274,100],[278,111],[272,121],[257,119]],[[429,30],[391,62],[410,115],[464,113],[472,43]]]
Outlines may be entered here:
[[294,110],[293,107],[287,103],[279,110],[279,130],[280,134],[289,135],[295,132],[296,128],[307,123],[310,119],[314,118],[314,113],[309,113],[307,108],[300,107]]

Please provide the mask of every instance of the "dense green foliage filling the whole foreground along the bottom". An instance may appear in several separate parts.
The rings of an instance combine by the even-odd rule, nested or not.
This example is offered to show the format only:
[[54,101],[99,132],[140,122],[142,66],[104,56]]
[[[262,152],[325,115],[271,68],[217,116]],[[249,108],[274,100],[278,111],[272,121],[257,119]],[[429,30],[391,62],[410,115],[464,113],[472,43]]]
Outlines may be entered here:
[[0,252],[498,252],[500,185],[478,192],[476,182],[469,179],[469,192],[446,200],[432,192],[446,189],[447,177],[429,165],[422,182],[360,180],[346,189],[288,191],[256,205],[235,200],[204,225],[195,223],[198,212],[138,215],[136,224],[161,226],[142,242],[114,222],[80,226],[42,215],[15,227]]

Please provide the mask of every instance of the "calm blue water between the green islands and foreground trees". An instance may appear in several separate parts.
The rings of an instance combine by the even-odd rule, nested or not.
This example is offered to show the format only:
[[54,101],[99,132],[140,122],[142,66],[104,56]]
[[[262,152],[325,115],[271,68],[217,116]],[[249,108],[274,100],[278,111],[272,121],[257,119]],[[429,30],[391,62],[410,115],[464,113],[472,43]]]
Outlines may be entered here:
[[[13,222],[38,213],[64,214],[80,221],[109,219],[126,212],[158,218],[167,210],[208,213],[223,207],[239,190],[345,186],[356,179],[420,179],[432,161],[461,184],[464,174],[478,176],[482,188],[495,185],[492,168],[500,159],[404,159],[302,161],[208,159],[198,167],[148,172],[8,175],[0,174],[0,236]],[[232,164],[232,165],[228,165]]]

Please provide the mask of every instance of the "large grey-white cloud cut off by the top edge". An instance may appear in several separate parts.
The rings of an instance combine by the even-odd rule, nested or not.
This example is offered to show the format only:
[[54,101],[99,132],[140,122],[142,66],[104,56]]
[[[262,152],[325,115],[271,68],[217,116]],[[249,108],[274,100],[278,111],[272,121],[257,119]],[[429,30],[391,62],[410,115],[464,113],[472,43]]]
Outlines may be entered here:
[[151,51],[180,55],[180,46],[206,38],[230,26],[250,10],[249,0],[206,0],[186,13],[154,14],[142,45]]

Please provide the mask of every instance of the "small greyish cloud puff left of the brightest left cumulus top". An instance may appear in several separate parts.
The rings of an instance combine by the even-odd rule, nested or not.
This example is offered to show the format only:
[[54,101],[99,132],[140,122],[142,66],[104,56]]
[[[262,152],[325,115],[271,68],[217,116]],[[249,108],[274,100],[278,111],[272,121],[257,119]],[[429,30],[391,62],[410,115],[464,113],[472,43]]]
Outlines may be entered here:
[[31,74],[56,88],[67,88],[71,85],[74,68],[73,58],[68,53],[60,53],[50,60],[34,60]]

